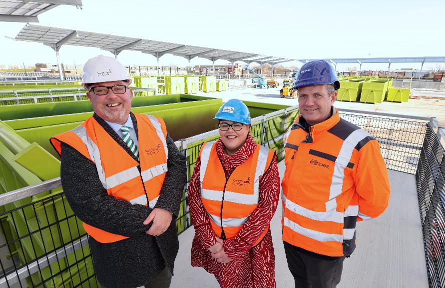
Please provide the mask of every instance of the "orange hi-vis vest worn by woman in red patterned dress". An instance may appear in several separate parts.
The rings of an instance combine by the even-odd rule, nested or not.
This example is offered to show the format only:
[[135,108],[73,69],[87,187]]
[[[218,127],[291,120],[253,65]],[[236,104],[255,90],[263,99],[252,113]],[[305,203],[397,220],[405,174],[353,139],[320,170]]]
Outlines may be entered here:
[[[260,179],[270,166],[275,152],[257,144],[254,153],[226,178],[215,146],[214,141],[206,142],[199,151],[201,201],[216,235],[221,239],[230,239],[238,235],[258,206]],[[263,239],[268,229],[253,246]]]

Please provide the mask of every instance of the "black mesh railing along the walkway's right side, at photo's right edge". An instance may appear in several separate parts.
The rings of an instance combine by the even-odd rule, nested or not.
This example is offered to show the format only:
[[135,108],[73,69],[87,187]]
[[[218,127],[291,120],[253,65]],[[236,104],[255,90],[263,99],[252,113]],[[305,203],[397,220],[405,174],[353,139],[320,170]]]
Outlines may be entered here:
[[417,194],[430,287],[445,287],[445,130],[427,126],[416,171]]

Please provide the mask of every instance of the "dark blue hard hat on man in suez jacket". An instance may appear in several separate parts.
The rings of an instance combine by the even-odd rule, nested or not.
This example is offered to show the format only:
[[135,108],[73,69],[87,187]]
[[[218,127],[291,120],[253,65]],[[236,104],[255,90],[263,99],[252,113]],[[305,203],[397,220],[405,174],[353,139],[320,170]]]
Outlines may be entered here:
[[293,88],[318,84],[333,84],[336,90],[340,88],[340,81],[335,70],[325,60],[305,63],[295,76]]

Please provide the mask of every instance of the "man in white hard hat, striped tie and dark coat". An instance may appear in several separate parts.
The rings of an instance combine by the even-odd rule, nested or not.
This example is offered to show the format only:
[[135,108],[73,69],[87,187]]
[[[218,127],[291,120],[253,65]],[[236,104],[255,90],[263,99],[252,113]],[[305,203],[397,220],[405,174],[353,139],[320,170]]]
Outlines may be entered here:
[[83,68],[94,114],[51,138],[63,191],[88,233],[102,287],[169,287],[185,157],[162,118],[130,112],[130,79],[103,55]]

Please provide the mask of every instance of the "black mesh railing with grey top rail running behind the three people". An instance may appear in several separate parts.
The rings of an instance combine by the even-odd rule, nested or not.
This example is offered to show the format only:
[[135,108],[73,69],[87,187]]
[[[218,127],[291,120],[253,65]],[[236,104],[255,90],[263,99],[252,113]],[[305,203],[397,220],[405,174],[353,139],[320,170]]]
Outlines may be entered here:
[[[293,106],[256,117],[250,132],[257,143],[274,149],[280,161],[286,132],[298,113]],[[390,169],[415,172],[428,120],[353,110],[342,110],[341,116],[379,140]],[[187,159],[187,183],[176,219],[178,233],[191,225],[186,189],[199,149],[203,141],[218,136],[215,129],[175,142]],[[0,179],[0,184],[12,187],[19,182],[12,179],[7,183],[1,182],[6,178]],[[60,178],[1,194],[0,209],[0,288],[98,287],[87,235],[63,196]]]

